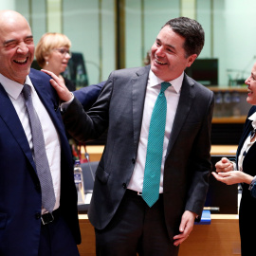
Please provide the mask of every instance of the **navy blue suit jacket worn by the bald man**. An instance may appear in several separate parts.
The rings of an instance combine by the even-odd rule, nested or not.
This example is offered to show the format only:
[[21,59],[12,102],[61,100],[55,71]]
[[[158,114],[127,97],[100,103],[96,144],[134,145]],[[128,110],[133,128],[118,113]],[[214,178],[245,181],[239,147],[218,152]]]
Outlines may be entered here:
[[[59,99],[46,74],[31,69],[29,78],[61,140],[61,212],[80,243],[73,163]],[[0,255],[37,256],[42,206],[40,183],[26,134],[1,84],[0,155]]]

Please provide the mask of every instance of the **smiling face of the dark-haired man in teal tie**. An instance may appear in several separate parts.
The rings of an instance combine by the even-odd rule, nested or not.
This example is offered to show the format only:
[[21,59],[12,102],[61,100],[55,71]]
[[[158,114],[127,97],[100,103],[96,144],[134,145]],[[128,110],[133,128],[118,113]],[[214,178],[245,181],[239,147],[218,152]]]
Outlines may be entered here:
[[179,77],[186,67],[191,66],[196,54],[186,56],[185,38],[175,33],[172,27],[163,27],[151,48],[151,70],[163,81]]

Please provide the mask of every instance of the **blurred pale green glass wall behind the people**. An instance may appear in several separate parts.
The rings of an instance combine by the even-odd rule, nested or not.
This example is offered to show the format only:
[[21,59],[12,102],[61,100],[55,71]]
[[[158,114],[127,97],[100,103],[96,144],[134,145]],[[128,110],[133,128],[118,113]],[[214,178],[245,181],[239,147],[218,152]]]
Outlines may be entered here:
[[88,84],[142,65],[160,27],[178,16],[205,29],[199,59],[217,74],[209,85],[243,84],[256,59],[255,0],[1,0],[0,9],[27,18],[35,45],[45,32],[66,34],[71,51],[82,53]]

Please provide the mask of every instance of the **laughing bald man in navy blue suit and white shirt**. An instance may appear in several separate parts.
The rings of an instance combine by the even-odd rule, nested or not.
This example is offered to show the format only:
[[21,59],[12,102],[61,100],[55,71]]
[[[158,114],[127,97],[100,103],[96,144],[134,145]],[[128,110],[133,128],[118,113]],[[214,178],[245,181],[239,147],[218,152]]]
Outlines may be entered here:
[[[46,74],[30,70],[33,58],[33,37],[26,19],[18,12],[1,10],[0,255],[75,256],[81,234],[72,156],[59,98]],[[42,199],[25,83],[43,129],[40,151],[46,148],[55,195],[53,211],[46,209]]]

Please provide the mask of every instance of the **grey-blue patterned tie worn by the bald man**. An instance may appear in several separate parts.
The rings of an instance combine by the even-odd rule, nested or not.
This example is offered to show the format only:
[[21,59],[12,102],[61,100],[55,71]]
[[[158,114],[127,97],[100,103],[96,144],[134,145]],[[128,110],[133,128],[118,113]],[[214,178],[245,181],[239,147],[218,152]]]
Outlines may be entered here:
[[42,207],[52,212],[55,205],[55,194],[46,155],[45,138],[40,120],[33,106],[30,92],[30,86],[25,84],[23,96],[27,106],[28,119],[32,132],[33,155],[42,191]]

